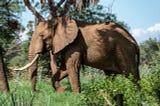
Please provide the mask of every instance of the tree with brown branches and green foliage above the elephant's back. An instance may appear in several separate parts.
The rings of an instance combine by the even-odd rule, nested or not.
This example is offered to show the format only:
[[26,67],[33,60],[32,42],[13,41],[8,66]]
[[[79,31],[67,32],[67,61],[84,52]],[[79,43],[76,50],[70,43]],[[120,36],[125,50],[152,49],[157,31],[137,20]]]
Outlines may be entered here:
[[[48,19],[56,16],[69,16],[71,18],[85,21],[89,23],[100,23],[107,21],[114,21],[129,30],[127,24],[118,21],[115,14],[110,13],[112,7],[106,8],[107,11],[102,11],[104,7],[97,5],[99,0],[41,0],[41,12],[48,12],[50,16]],[[37,17],[38,21],[45,20],[39,12],[31,5],[29,0],[24,0],[25,5]],[[95,6],[96,5],[96,6]],[[45,14],[46,15],[46,14]]]

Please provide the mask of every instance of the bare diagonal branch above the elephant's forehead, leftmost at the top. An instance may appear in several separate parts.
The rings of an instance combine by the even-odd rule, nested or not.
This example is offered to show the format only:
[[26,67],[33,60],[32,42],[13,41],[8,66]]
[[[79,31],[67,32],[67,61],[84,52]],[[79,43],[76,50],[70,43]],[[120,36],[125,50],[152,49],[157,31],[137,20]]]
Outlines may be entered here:
[[24,3],[28,7],[28,9],[38,18],[38,21],[44,21],[44,18],[36,11],[29,0],[24,0]]

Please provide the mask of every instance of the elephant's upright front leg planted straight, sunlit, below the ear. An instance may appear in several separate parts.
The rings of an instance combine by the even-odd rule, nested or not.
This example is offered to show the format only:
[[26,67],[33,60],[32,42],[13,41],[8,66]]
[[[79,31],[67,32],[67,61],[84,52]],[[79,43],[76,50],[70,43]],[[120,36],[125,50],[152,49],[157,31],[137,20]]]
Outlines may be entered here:
[[66,69],[68,71],[69,81],[73,92],[80,92],[80,53],[74,52],[69,55],[66,61]]

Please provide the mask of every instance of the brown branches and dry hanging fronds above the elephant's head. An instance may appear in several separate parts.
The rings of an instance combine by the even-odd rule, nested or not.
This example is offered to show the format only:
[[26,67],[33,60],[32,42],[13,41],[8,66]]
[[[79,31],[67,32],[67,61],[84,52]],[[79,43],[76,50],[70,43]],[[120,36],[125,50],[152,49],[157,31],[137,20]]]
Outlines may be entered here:
[[[82,10],[88,7],[90,4],[97,4],[99,0],[60,0],[58,3],[56,0],[41,0],[40,3],[42,8],[47,4],[48,10],[50,11],[50,17],[65,16],[71,9]],[[24,0],[25,5],[29,10],[38,18],[39,21],[44,20],[42,15],[31,5],[29,0]]]

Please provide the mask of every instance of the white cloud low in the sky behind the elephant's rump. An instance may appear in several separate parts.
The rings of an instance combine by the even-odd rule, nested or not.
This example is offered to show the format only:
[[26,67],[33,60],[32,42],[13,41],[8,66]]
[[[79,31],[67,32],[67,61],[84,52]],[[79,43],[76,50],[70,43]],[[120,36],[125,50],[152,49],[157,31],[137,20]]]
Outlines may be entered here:
[[149,38],[160,38],[160,23],[157,23],[147,29],[133,29],[131,31],[138,43],[141,43]]

